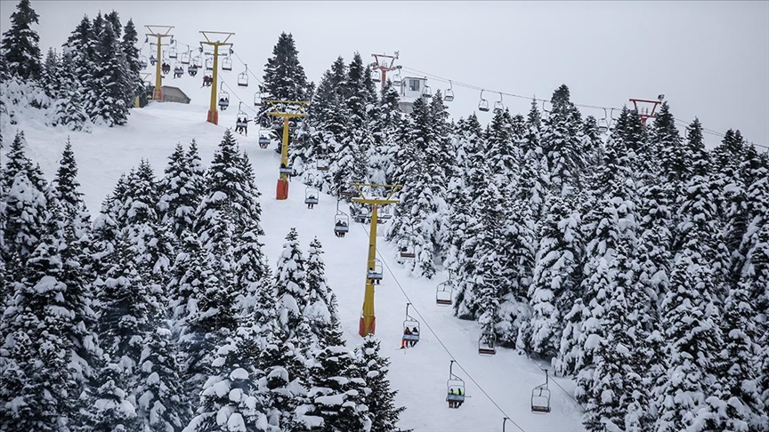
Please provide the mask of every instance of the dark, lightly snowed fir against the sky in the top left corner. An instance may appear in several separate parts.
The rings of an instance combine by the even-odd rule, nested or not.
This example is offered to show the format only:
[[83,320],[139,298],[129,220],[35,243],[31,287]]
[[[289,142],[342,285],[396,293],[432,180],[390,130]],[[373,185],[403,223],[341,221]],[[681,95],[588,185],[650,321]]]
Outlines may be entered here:
[[16,12],[11,14],[11,27],[0,41],[0,55],[6,70],[24,81],[38,79],[43,69],[42,53],[37,45],[40,36],[32,29],[33,24],[39,24],[39,18],[29,0],[19,0]]

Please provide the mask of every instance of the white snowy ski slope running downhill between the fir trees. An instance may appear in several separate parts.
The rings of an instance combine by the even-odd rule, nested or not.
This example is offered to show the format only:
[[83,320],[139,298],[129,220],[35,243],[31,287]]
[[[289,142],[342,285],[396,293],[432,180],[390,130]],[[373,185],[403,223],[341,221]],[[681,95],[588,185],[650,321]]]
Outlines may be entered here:
[[[233,85],[227,89],[231,93],[231,107],[220,113],[219,125],[208,124],[210,88],[198,88],[200,74],[194,79],[185,78],[166,79],[166,84],[187,92],[192,98],[190,105],[150,103],[146,108],[133,109],[126,126],[96,127],[91,134],[47,129],[35,120],[21,119],[20,124],[4,131],[4,151],[16,130],[23,130],[28,140],[28,156],[53,180],[69,136],[77,158],[80,190],[95,217],[101,201],[114,188],[121,173],[129,172],[142,158],[152,164],[156,177],[160,178],[177,142],[187,148],[195,139],[202,162],[207,166],[224,129],[234,129],[238,97],[253,102],[253,91],[238,89],[236,94],[231,91]],[[235,74],[230,75],[229,80],[234,84]],[[348,347],[352,348],[361,342],[358,323],[366,277],[368,225],[352,223],[347,236],[336,237],[333,232],[336,199],[321,194],[320,204],[308,210],[304,204],[304,185],[298,180],[291,182],[288,199],[277,201],[279,155],[274,146],[258,147],[259,134],[255,126],[249,127],[248,132],[248,137],[235,136],[254,165],[257,186],[263,194],[264,252],[275,266],[290,228],[297,228],[305,256],[313,236],[318,236],[325,252],[328,284],[336,292],[344,335]],[[349,214],[346,205],[341,205],[341,210]],[[376,285],[376,336],[382,340],[382,355],[389,356],[392,362],[389,379],[398,390],[396,404],[407,406],[401,414],[401,427],[413,428],[416,432],[492,432],[501,431],[503,418],[509,417],[520,428],[508,421],[507,431],[585,430],[580,420],[581,408],[571,396],[574,384],[569,379],[551,378],[552,412],[530,412],[531,389],[545,379],[538,365],[509,349],[498,349],[496,356],[479,356],[479,325],[458,320],[452,316],[452,308],[435,304],[435,287],[446,280],[447,275],[439,273],[433,280],[409,277],[394,260],[394,245],[385,243],[382,237],[385,228],[379,229],[377,244],[384,264],[384,279]],[[413,304],[411,315],[421,323],[421,336],[415,348],[401,350],[402,323],[408,301]],[[449,409],[445,401],[452,358],[457,361],[454,372],[465,380],[469,396],[457,410]]]

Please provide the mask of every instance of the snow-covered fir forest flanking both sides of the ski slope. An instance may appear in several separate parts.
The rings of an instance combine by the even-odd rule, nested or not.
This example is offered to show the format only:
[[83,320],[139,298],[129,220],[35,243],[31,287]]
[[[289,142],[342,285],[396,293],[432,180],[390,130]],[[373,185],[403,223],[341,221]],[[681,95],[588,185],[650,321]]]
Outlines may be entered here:
[[[45,56],[37,20],[20,0],[0,44],[0,429],[404,430],[380,341],[344,339],[317,238],[264,232],[271,191],[232,132],[211,160],[195,140],[142,160],[98,214],[70,142],[46,178],[4,132],[123,127],[146,91],[132,20],[86,16]],[[570,377],[582,428],[769,431],[769,156],[739,130],[708,151],[663,102],[600,132],[565,84],[485,125],[440,91],[407,115],[357,52],[309,81],[286,33],[261,91],[311,101],[295,183],[364,217],[351,183],[403,185],[385,239],[416,256],[390,258],[448,270],[456,319]]]

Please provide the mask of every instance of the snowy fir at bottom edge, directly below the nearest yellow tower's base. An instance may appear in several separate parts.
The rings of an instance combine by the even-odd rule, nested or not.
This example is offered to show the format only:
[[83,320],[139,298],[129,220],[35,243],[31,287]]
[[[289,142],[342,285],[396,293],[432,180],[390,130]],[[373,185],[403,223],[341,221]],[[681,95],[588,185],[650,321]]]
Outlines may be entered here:
[[363,340],[363,344],[355,348],[356,360],[368,388],[364,403],[368,406],[370,431],[409,432],[397,426],[401,412],[406,411],[406,407],[395,405],[395,395],[398,394],[398,390],[390,387],[390,380],[387,378],[390,360],[379,354],[380,349],[380,342],[373,335],[368,335]]

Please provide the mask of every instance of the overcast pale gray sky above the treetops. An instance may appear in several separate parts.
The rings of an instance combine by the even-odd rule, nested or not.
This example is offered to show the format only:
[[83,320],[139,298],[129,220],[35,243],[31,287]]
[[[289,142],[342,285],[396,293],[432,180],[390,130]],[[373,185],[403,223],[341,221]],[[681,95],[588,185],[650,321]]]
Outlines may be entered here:
[[[3,32],[17,3],[0,0]],[[84,14],[115,10],[124,23],[133,18],[140,34],[147,24],[174,26],[185,44],[198,44],[198,30],[234,32],[233,49],[261,77],[286,31],[316,83],[338,55],[349,62],[357,51],[371,61],[372,53],[399,51],[404,68],[489,89],[490,101],[499,99],[493,91],[549,99],[560,84],[569,86],[575,103],[604,107],[664,93],[676,118],[689,123],[699,116],[708,129],[740,129],[747,140],[769,146],[769,2],[32,0],[32,6],[44,52],[61,47]],[[235,60],[233,72],[238,69]],[[433,92],[447,86],[428,84]],[[475,110],[477,90],[455,84],[454,92],[452,116]],[[503,101],[513,113],[530,104]],[[603,116],[599,109],[582,111]],[[488,122],[491,114],[479,116]],[[708,147],[719,141],[706,140]]]

